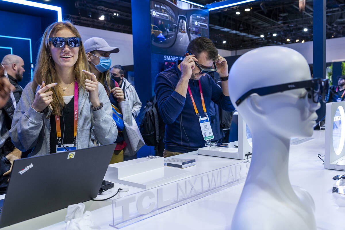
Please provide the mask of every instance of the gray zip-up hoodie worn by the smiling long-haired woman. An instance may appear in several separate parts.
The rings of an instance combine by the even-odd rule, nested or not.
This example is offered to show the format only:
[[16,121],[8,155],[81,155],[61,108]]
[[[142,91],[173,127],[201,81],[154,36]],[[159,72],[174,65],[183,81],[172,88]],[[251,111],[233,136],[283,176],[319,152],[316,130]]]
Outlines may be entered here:
[[[96,141],[100,144],[110,144],[117,138],[116,123],[112,119],[110,101],[103,85],[98,82],[98,97],[99,101],[103,102],[103,108],[92,111],[92,114],[88,95],[85,89],[79,89],[77,149],[95,146]],[[29,157],[50,152],[50,120],[31,107],[34,98],[35,94],[30,82],[25,87],[14,111],[10,130],[16,148],[21,151],[34,148]]]

